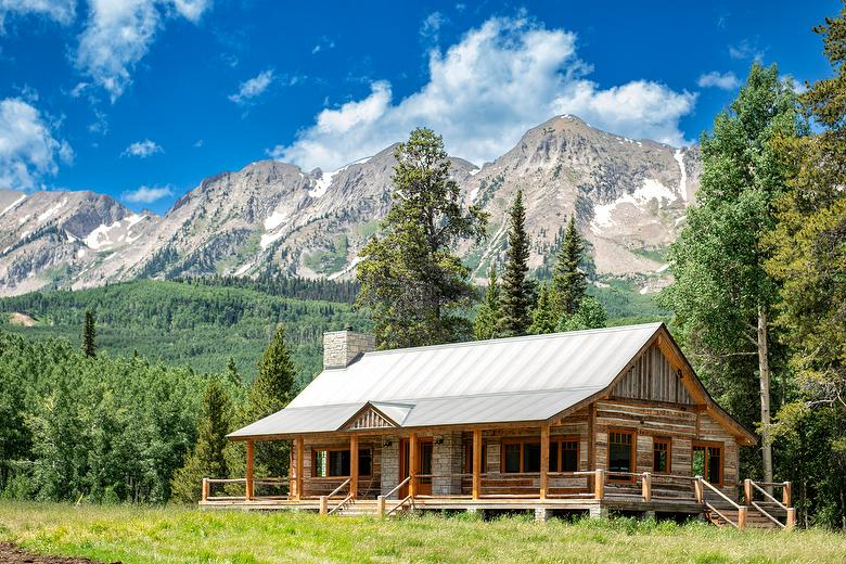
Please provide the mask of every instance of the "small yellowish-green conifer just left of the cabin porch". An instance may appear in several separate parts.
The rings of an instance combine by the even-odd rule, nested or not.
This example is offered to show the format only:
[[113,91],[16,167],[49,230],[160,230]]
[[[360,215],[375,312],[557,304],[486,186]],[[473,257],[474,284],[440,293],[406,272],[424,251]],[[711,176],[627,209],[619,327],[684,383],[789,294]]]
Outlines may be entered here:
[[191,503],[200,499],[204,477],[229,476],[225,449],[231,431],[231,401],[226,388],[210,380],[203,395],[203,411],[197,420],[197,440],[185,463],[174,473],[170,496],[174,501]]

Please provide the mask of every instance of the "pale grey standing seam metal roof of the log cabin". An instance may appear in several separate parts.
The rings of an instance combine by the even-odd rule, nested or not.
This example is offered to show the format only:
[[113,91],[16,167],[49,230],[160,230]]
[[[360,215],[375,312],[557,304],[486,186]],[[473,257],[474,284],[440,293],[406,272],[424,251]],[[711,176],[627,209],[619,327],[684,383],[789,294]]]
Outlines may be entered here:
[[368,403],[402,427],[547,420],[607,387],[661,326],[367,352],[229,436],[332,432]]

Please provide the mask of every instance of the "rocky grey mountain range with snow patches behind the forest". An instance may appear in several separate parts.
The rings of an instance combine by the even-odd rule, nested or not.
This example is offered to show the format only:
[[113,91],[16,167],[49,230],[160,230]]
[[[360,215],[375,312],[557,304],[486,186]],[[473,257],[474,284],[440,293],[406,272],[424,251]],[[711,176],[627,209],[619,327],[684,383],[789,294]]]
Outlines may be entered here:
[[[164,216],[87,191],[0,190],[0,296],[138,278],[348,278],[389,208],[394,150],[333,171],[251,163],[204,179]],[[507,208],[522,189],[533,269],[549,270],[573,213],[598,283],[626,278],[649,293],[668,280],[664,252],[701,163],[696,146],[627,139],[564,115],[480,168],[451,157],[451,171],[464,204],[490,214],[487,239],[458,249],[474,278],[501,259]]]

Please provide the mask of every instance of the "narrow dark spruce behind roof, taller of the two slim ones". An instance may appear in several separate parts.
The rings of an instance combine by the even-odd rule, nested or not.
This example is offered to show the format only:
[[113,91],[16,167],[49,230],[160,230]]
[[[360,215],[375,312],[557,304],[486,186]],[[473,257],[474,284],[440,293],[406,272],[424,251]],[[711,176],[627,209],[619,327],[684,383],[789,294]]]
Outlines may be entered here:
[[527,280],[529,241],[523,191],[517,190],[509,209],[509,246],[502,274],[499,329],[503,336],[520,336],[531,325],[533,284]]

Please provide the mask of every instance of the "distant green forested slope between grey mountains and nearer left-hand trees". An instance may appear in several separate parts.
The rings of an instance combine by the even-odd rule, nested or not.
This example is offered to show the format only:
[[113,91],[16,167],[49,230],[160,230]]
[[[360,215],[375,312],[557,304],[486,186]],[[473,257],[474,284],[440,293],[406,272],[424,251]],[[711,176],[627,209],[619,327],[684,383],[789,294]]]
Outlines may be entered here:
[[[264,284],[264,286],[262,286]],[[277,295],[269,293],[275,292]],[[189,366],[195,372],[220,372],[232,357],[251,380],[256,361],[278,323],[283,323],[300,383],[321,369],[324,331],[354,325],[364,330],[367,318],[348,303],[352,284],[332,282],[133,281],[79,292],[36,292],[0,300],[0,312],[24,313],[35,324],[11,322],[5,331],[33,338],[64,337],[79,343],[86,310],[94,312],[98,346],[112,357],[136,352],[150,362]],[[311,297],[299,299],[285,294]]]

